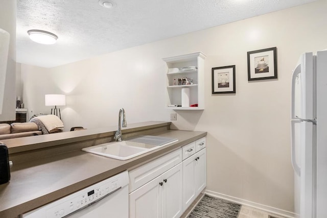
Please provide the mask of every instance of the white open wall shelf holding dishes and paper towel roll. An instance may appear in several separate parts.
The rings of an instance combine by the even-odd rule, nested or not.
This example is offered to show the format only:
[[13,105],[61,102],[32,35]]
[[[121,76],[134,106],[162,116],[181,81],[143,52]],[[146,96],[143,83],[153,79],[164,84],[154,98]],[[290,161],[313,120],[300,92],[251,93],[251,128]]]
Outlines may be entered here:
[[[164,58],[167,64],[166,70],[166,107],[172,110],[203,110],[204,109],[204,59],[202,52]],[[196,66],[197,69],[179,70],[168,72],[169,68]],[[192,79],[192,85],[178,85],[178,78],[187,77]],[[174,79],[176,85],[174,85]],[[168,107],[168,105],[181,105],[182,88],[190,88],[190,105],[198,104],[198,107]]]

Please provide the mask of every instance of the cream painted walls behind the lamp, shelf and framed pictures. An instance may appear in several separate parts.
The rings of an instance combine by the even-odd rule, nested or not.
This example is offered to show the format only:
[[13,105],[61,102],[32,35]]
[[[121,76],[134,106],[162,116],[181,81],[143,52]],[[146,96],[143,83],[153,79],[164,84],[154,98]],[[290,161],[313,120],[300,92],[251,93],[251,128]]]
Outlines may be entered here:
[[[202,51],[205,110],[176,111],[173,126],[208,132],[207,189],[294,211],[291,71],[301,53],[327,49],[326,26],[326,1],[318,1],[55,68],[22,65],[23,98],[33,115],[50,112],[44,94],[66,93],[66,130],[117,125],[121,107],[130,123],[169,120],[161,59]],[[278,79],[248,82],[247,52],[274,46]],[[233,64],[236,94],[212,95],[211,68]]]

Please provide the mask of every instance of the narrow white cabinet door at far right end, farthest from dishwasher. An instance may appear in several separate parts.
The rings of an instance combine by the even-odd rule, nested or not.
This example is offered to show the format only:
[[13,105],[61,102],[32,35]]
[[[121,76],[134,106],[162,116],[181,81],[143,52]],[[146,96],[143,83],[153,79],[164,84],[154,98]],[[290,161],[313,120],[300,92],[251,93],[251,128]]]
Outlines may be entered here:
[[206,186],[206,149],[195,154],[195,196]]

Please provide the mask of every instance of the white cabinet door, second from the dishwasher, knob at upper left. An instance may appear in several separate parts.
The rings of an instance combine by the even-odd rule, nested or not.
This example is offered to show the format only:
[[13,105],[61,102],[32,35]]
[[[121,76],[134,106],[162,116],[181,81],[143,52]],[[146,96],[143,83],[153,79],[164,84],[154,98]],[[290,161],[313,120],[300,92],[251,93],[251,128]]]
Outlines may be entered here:
[[162,217],[180,217],[183,213],[182,163],[162,174]]

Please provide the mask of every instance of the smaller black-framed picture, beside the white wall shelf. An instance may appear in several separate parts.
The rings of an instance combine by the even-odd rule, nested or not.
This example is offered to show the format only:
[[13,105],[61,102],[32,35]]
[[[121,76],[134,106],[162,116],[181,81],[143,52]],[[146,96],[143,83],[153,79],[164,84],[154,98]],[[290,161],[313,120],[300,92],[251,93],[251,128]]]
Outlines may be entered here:
[[212,68],[213,94],[236,93],[235,65]]

